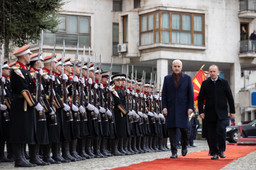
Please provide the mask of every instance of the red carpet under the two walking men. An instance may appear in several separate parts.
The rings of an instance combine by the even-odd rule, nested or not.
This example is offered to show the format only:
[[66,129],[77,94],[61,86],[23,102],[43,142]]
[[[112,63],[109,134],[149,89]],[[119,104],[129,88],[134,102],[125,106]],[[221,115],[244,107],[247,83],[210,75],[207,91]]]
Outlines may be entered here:
[[247,156],[247,154],[255,151],[255,149],[256,147],[227,146],[225,152],[226,158],[224,159],[219,158],[219,160],[210,160],[210,156],[208,156],[209,150],[204,150],[202,152],[190,153],[185,157],[178,156],[178,159],[156,159],[154,161],[140,162],[139,164],[132,164],[130,166],[118,167],[114,169],[221,169],[230,162],[233,162],[240,157]]

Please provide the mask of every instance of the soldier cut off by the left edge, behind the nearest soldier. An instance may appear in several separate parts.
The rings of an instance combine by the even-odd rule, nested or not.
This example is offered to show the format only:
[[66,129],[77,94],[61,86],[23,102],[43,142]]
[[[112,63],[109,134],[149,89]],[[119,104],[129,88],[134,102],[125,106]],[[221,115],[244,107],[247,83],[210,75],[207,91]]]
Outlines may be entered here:
[[[8,62],[5,61],[2,65],[2,77],[1,77],[1,88],[4,88],[4,103],[1,103],[0,110],[0,162],[13,162],[15,161],[15,156],[13,154],[13,147],[9,142],[9,119],[5,117],[10,113],[12,93],[11,93],[11,84],[8,80],[9,77]],[[3,86],[3,87],[2,87]],[[6,112],[8,111],[8,113]],[[2,119],[2,120],[1,120]],[[7,158],[4,156],[4,145],[6,143]]]

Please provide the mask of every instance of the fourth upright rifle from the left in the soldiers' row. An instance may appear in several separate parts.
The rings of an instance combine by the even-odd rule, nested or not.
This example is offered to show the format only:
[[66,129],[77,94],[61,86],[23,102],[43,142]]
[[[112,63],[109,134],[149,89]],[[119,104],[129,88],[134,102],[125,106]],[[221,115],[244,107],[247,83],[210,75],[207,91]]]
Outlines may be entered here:
[[[64,75],[64,62],[65,62],[65,40],[63,40],[63,52],[62,52],[62,64],[61,64],[61,74]],[[62,84],[62,96],[63,96],[63,103],[68,105],[68,93],[66,89],[66,81],[61,78],[61,84]],[[64,110],[63,110],[64,111]],[[69,110],[66,112],[66,122],[73,121],[72,112]]]

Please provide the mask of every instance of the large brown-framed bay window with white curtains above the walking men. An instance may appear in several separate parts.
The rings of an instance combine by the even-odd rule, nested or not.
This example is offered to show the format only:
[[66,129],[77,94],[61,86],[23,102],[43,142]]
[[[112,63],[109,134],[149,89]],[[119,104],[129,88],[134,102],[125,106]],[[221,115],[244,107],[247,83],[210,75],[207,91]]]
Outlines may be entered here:
[[156,11],[141,15],[140,45],[159,42],[204,45],[204,14]]

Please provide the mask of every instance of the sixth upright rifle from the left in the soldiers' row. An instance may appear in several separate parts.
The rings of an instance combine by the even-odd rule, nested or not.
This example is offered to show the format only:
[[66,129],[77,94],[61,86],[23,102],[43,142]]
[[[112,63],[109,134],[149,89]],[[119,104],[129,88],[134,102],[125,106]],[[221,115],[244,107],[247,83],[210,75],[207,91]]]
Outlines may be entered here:
[[[85,62],[85,46],[83,46],[83,57],[82,57],[82,64],[81,64],[81,70],[80,70],[80,78],[83,77],[83,64]],[[79,101],[80,101],[80,105],[83,106],[83,84],[80,83],[80,86],[79,86]],[[85,106],[83,106],[84,108]],[[87,121],[87,114],[86,112],[85,113],[81,113],[81,121]]]

